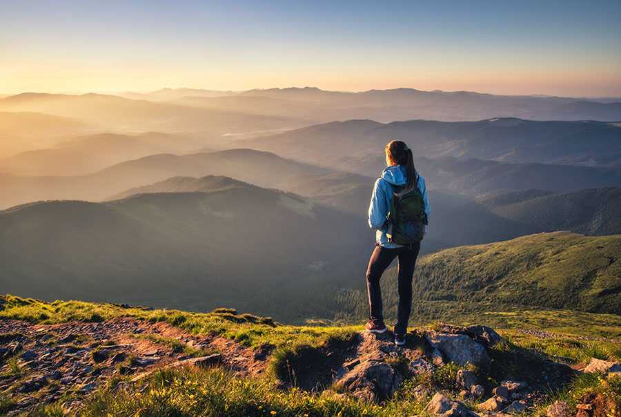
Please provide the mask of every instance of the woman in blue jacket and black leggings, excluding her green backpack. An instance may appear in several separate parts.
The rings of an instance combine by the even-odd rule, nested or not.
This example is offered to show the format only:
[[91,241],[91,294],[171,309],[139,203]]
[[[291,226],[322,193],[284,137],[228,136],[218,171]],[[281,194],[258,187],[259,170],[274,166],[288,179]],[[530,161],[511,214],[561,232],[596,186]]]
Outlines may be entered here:
[[393,140],[386,144],[385,151],[388,167],[384,169],[382,176],[375,182],[371,204],[368,207],[368,224],[371,229],[376,229],[377,232],[375,233],[375,249],[371,254],[366,270],[366,289],[370,310],[366,329],[372,333],[384,333],[387,330],[382,312],[380,278],[391,262],[398,258],[399,306],[394,333],[395,344],[403,346],[405,345],[405,334],[412,309],[412,278],[416,258],[420,251],[420,242],[408,245],[391,243],[388,235],[386,235],[388,226],[390,226],[388,211],[395,193],[404,195],[418,187],[424,200],[423,232],[426,232],[429,200],[425,180],[418,175],[414,167],[411,149],[404,142]]

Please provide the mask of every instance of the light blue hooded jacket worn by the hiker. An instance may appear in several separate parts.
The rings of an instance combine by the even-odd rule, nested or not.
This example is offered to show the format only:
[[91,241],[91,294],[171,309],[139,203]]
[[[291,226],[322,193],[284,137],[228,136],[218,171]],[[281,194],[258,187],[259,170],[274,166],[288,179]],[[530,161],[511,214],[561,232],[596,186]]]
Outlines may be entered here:
[[[384,248],[398,248],[401,246],[388,242],[388,237],[386,237],[386,220],[391,207],[391,201],[393,200],[393,185],[405,185],[407,182],[405,167],[393,165],[388,166],[388,168],[382,171],[382,176],[377,179],[373,187],[371,204],[368,206],[368,226],[370,226],[371,229],[377,230],[375,233],[375,242]],[[427,215],[428,221],[430,214],[429,197],[427,195],[425,179],[420,175],[418,176],[418,189],[423,195],[425,214]]]

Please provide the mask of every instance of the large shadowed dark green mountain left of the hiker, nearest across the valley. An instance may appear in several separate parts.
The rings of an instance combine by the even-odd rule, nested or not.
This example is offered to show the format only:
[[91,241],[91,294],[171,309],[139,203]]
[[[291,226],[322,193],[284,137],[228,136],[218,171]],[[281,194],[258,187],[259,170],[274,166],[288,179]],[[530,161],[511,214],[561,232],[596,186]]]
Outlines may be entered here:
[[[373,237],[358,222],[248,184],[107,203],[30,203],[0,212],[0,284],[45,298],[123,297],[201,309],[235,300],[264,310],[311,278],[318,285],[327,271],[326,287],[362,274]],[[295,292],[284,295],[291,284]]]

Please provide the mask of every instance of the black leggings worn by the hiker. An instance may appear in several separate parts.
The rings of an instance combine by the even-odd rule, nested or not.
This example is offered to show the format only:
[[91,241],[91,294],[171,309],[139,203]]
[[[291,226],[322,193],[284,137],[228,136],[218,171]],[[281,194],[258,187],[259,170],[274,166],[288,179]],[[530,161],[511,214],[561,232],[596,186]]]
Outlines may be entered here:
[[419,251],[420,242],[395,249],[384,248],[376,244],[371,259],[368,260],[366,291],[368,292],[369,319],[380,322],[384,321],[380,278],[391,262],[398,258],[399,307],[397,308],[397,324],[395,324],[397,334],[405,334],[408,329],[408,320],[412,311],[412,278]]

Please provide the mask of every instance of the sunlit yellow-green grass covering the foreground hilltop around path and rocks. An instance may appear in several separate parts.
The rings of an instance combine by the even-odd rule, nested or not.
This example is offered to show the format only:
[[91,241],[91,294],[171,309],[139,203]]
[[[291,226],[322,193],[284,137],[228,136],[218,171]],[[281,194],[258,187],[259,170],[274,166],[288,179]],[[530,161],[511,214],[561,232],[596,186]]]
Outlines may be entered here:
[[[187,331],[206,334],[220,333],[244,345],[259,347],[266,343],[275,345],[271,369],[284,366],[282,360],[295,355],[299,347],[320,347],[338,340],[351,338],[362,326],[309,327],[274,323],[270,318],[251,314],[237,314],[230,309],[217,309],[210,313],[190,313],[175,310],[149,310],[140,307],[123,308],[115,304],[94,304],[79,301],[56,301],[17,298],[7,295],[0,299],[0,320],[21,319],[52,324],[72,320],[99,321],[119,316],[130,316],[151,322],[165,321]],[[620,360],[619,343],[586,340],[577,335],[621,337],[621,318],[614,315],[584,314],[569,311],[524,311],[516,313],[489,313],[479,322],[488,319],[502,320],[501,330],[508,342],[501,349],[531,349],[544,356],[562,356],[569,362],[580,362],[595,356]],[[472,317],[471,317],[472,319]],[[524,324],[524,319],[527,323]],[[584,320],[597,323],[599,333],[585,329]],[[417,324],[417,323],[415,323]],[[565,329],[565,335],[541,338],[524,334],[518,329],[533,325],[536,329]],[[588,330],[588,331],[587,331]],[[427,385],[432,392],[444,390],[456,396],[455,372],[457,367],[447,366],[428,377],[406,380],[395,397],[382,405],[341,396],[333,389],[321,394],[311,394],[300,389],[275,389],[274,374],[256,379],[238,378],[219,369],[177,369],[159,371],[150,378],[117,390],[117,381],[109,387],[98,389],[86,401],[82,410],[85,416],[99,415],[179,415],[192,416],[207,412],[209,416],[391,416],[419,415],[428,398],[417,398],[413,387]],[[585,376],[575,380],[565,391],[554,394],[549,400],[564,398],[571,405],[578,403],[585,392],[602,392],[617,396],[621,378],[601,379]],[[56,405],[38,410],[47,416],[62,415],[62,400]],[[473,405],[471,405],[473,406]],[[0,409],[10,407],[10,398],[0,396]],[[8,409],[8,408],[7,408]],[[340,414],[339,414],[340,413]]]

